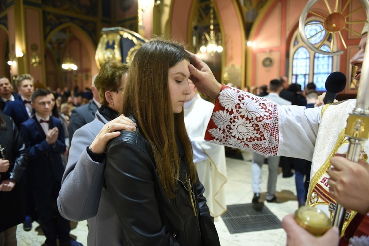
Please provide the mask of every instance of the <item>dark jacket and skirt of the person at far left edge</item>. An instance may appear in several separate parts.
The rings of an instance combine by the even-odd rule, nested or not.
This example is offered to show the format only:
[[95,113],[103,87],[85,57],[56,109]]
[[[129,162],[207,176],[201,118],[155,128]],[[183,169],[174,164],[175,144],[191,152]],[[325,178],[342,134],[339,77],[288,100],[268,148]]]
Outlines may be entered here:
[[6,123],[6,129],[0,129],[0,144],[4,148],[2,151],[4,156],[0,154],[0,158],[9,160],[10,166],[7,172],[0,173],[0,183],[3,180],[13,179],[16,184],[10,192],[0,191],[0,232],[24,220],[21,177],[28,159],[27,150],[13,120],[6,115],[1,114],[1,117]]

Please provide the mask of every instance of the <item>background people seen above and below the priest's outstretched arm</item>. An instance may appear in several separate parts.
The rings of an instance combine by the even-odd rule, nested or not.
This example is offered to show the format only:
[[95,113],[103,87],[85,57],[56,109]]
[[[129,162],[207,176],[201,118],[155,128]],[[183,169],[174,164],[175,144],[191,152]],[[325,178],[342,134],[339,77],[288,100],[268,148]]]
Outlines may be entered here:
[[[278,104],[283,103],[283,105],[298,105],[306,108],[313,108],[316,100],[321,95],[321,93],[316,90],[314,82],[307,83],[304,90],[302,90],[300,84],[288,84],[288,78],[286,76],[271,80],[270,83],[273,84],[272,94],[274,96],[272,97],[272,100],[277,100]],[[276,91],[275,87],[277,84],[280,85],[280,90],[278,89]],[[269,97],[269,94],[271,93],[270,85],[261,85],[259,87],[253,87],[252,89],[250,89],[249,86],[245,86],[243,91],[271,99]],[[278,94],[277,97],[276,94]],[[252,189],[254,191],[254,196],[252,198],[253,203],[258,203],[260,199],[261,166],[264,163],[268,163],[269,178],[267,185],[268,191],[266,194],[267,202],[277,201],[277,197],[274,195],[274,192],[277,182],[277,174],[279,172],[278,167],[281,167],[283,178],[288,178],[293,175],[295,176],[298,206],[301,207],[306,204],[307,191],[310,184],[311,161],[285,156],[272,156],[265,160],[264,156],[254,152],[252,163]]]

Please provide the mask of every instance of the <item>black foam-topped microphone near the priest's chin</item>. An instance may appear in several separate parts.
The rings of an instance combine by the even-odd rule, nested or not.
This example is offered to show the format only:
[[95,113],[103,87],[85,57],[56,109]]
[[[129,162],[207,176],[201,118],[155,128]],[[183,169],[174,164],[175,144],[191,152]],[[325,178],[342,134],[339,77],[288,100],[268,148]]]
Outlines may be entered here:
[[325,81],[325,89],[327,90],[327,93],[323,99],[324,104],[332,103],[335,100],[337,93],[342,92],[343,89],[345,89],[346,82],[346,75],[343,73],[331,73]]

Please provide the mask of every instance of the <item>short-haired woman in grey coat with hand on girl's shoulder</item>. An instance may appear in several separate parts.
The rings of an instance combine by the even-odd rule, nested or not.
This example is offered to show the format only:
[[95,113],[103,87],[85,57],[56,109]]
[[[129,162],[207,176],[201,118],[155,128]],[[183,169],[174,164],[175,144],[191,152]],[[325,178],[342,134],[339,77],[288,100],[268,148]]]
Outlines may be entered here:
[[88,245],[122,245],[123,242],[110,195],[102,187],[108,141],[119,136],[120,130],[135,129],[132,120],[118,116],[127,71],[126,64],[110,61],[96,76],[94,83],[99,91],[101,107],[95,120],[73,135],[57,200],[59,212],[66,219],[89,219]]

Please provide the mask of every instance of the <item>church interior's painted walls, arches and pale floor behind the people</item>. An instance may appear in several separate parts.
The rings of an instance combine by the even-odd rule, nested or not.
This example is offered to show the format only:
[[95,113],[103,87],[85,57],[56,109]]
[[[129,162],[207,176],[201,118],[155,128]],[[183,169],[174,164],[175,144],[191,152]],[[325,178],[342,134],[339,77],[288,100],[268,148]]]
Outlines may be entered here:
[[[307,8],[308,2],[0,0],[0,75],[14,83],[17,75],[29,73],[35,88],[83,90],[91,86],[104,62],[117,59],[129,64],[142,43],[160,36],[184,44],[206,62],[221,84],[256,94],[257,88],[287,76],[289,84],[302,90],[314,82],[322,93],[328,75],[340,71],[347,84],[337,99],[356,98],[356,68],[350,58],[359,50],[365,8],[360,0],[318,0]],[[326,17],[332,12],[343,17],[343,23],[329,31]],[[306,18],[301,20],[303,13]],[[226,159],[227,206],[251,203],[253,196],[252,154],[237,151],[236,155]],[[267,165],[262,172],[265,190]],[[280,223],[298,208],[295,179],[279,173],[276,187],[277,203],[267,203],[263,193],[261,201]],[[221,245],[286,245],[280,224],[275,229],[231,233],[224,220],[215,219]],[[41,245],[45,238],[37,227],[33,222],[33,229],[25,232],[18,226],[18,245]],[[86,245],[87,222],[73,227],[72,237]]]

